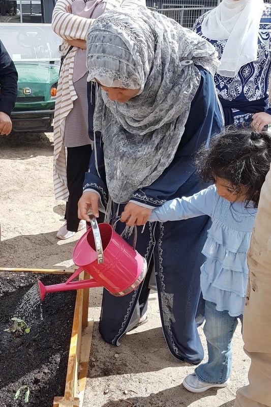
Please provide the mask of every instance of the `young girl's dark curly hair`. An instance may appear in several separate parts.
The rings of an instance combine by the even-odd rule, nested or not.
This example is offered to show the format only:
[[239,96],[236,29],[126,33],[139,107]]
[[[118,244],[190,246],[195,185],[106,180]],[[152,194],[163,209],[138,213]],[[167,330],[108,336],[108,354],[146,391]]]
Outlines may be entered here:
[[201,147],[196,156],[198,173],[203,182],[217,178],[230,181],[238,195],[240,187],[248,188],[248,201],[258,207],[260,190],[271,162],[271,133],[251,128],[227,127],[214,137],[208,147]]

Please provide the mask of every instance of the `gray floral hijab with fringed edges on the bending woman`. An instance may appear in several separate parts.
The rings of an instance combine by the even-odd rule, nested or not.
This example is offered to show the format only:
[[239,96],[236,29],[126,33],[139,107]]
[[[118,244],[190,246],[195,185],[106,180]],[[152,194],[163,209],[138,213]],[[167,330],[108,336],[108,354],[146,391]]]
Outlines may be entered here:
[[94,130],[104,142],[114,202],[152,184],[171,163],[199,83],[195,64],[214,74],[215,48],[174,20],[144,7],[98,17],[87,36],[88,80],[140,89],[127,103],[96,95]]

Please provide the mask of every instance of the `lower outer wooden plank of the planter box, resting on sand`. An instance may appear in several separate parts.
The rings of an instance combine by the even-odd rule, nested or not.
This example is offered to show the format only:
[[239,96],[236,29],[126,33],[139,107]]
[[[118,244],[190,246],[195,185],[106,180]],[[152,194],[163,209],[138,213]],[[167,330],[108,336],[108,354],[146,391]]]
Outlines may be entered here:
[[78,393],[79,407],[83,407],[83,400],[85,394],[86,378],[88,371],[89,355],[91,353],[92,335],[93,335],[94,320],[88,321],[87,326],[84,328],[81,340],[81,352],[79,363],[79,376],[78,376]]

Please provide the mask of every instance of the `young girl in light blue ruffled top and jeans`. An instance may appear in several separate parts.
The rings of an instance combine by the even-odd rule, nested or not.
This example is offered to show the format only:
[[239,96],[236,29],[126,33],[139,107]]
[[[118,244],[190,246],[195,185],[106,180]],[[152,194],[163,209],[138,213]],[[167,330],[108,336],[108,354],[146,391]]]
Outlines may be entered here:
[[271,161],[271,135],[252,129],[227,129],[197,155],[198,172],[214,185],[188,198],[154,209],[149,221],[212,218],[202,253],[201,289],[205,299],[204,334],[208,362],[189,374],[184,387],[194,393],[225,387],[231,372],[231,341],[242,321],[248,280],[247,252],[260,189]]

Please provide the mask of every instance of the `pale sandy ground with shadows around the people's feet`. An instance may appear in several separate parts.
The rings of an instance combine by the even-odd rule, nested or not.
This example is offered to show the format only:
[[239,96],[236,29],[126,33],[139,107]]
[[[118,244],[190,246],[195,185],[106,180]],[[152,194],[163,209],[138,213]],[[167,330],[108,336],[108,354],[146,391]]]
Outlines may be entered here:
[[[82,232],[68,241],[56,239],[65,205],[54,199],[52,154],[50,133],[0,136],[0,267],[73,267],[72,251]],[[99,335],[101,298],[100,288],[91,289],[89,317],[95,328],[83,407],[233,406],[236,390],[247,384],[249,368],[240,324],[233,340],[230,385],[193,394],[182,386],[193,367],[169,353],[156,293],[150,295],[148,323],[123,337],[119,347]],[[199,332],[205,346],[202,327]]]

